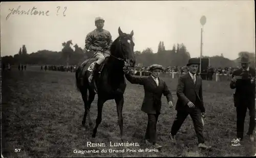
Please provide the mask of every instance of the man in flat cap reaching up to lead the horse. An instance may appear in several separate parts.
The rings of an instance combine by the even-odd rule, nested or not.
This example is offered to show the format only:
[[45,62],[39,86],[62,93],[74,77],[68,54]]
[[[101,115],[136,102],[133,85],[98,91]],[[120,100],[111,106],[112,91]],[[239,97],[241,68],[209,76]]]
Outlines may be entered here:
[[163,67],[158,64],[150,66],[151,75],[148,77],[134,77],[124,67],[125,77],[132,84],[144,86],[145,96],[141,110],[147,114],[148,122],[145,134],[145,142],[152,143],[153,148],[159,149],[162,146],[156,143],[156,124],[158,116],[161,113],[161,97],[166,96],[169,107],[173,107],[173,96],[168,90],[166,83],[160,80],[159,74]]

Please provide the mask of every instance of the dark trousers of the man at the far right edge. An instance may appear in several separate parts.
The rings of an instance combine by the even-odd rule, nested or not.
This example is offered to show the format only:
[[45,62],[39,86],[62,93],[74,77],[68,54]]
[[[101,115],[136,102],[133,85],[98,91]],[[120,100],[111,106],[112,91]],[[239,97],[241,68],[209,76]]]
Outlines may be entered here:
[[249,129],[248,135],[253,134],[253,130],[255,128],[255,102],[253,99],[244,99],[243,104],[239,104],[237,107],[237,137],[243,139],[244,135],[244,120],[247,112],[247,108],[249,109]]

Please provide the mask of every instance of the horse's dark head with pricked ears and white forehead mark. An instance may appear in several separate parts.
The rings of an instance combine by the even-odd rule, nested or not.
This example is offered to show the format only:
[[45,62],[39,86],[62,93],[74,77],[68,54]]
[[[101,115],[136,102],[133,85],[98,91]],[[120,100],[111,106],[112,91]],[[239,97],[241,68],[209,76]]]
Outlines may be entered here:
[[119,43],[122,55],[124,57],[124,62],[129,67],[134,67],[136,60],[134,54],[134,42],[133,42],[133,31],[130,34],[125,34],[118,28],[119,33]]

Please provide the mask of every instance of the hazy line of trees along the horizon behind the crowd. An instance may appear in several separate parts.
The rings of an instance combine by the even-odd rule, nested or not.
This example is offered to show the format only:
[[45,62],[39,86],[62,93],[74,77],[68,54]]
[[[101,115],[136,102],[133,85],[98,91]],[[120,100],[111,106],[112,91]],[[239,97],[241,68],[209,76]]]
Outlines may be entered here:
[[[38,65],[77,65],[86,59],[93,56],[93,51],[88,51],[86,48],[81,48],[77,44],[72,49],[72,40],[62,43],[61,51],[38,50],[27,54],[26,45],[19,49],[18,54],[12,56],[1,57],[2,63],[10,63],[11,65],[18,64],[38,64]],[[251,65],[254,67],[255,53],[239,52],[238,57],[243,53],[248,53],[251,59]],[[165,50],[164,42],[158,44],[158,51],[154,53],[152,48],[145,48],[143,51],[135,51],[136,63],[149,66],[153,63],[163,66],[185,66],[190,59],[190,54],[183,43],[173,45],[172,50]],[[237,67],[238,60],[229,60],[221,56],[203,57],[210,59],[212,67]]]

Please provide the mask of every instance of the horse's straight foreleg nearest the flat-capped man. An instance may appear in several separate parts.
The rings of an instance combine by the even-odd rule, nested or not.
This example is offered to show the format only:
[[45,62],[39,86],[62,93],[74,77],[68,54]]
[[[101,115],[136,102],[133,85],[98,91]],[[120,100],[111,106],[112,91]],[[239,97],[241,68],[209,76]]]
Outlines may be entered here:
[[123,96],[121,98],[115,98],[116,101],[116,110],[117,110],[117,117],[118,117],[118,124],[120,127],[120,136],[121,140],[124,140],[123,137],[123,116],[122,116],[122,111],[123,111]]

